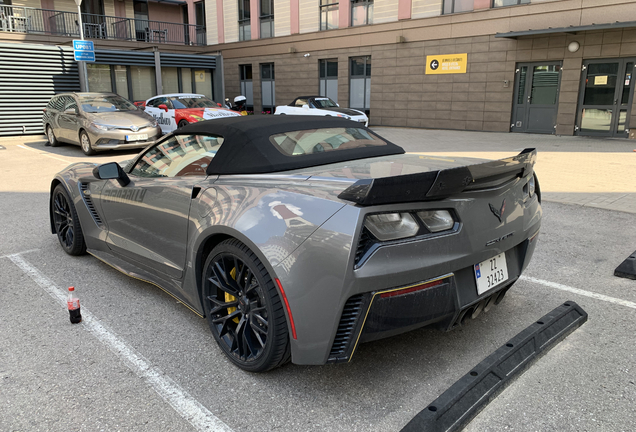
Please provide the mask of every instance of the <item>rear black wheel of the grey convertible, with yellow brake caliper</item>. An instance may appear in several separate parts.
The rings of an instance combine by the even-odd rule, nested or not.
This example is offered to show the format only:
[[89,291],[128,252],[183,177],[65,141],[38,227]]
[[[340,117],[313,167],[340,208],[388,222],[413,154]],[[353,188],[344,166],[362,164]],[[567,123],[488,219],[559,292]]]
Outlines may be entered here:
[[223,352],[248,372],[290,358],[283,303],[265,266],[238,240],[217,245],[206,260],[203,295],[208,324]]

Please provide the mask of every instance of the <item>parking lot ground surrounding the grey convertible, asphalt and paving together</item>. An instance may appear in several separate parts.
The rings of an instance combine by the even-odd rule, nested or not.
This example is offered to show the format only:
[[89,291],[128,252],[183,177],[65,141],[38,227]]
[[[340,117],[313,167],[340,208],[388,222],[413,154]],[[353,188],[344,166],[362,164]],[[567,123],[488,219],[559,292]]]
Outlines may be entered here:
[[[43,137],[0,139],[0,430],[399,431],[566,300],[581,305],[588,322],[465,430],[633,430],[636,281],[613,270],[636,250],[636,144],[376,130],[434,156],[539,148],[544,220],[533,261],[500,305],[457,330],[424,328],[364,344],[349,364],[290,364],[266,374],[232,366],[207,323],[172,297],[90,256],[67,256],[50,234],[55,172],[133,152],[86,157],[79,147],[44,147]],[[609,199],[597,202],[602,197]],[[55,297],[71,285],[90,317],[79,325]]]

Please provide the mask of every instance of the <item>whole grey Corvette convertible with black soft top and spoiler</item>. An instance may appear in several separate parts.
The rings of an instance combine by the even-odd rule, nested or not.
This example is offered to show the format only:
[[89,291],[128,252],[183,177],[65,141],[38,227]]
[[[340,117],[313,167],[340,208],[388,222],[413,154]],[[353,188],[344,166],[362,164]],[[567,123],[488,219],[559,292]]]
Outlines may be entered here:
[[124,167],[70,165],[51,230],[207,318],[242,369],[347,362],[502,300],[541,225],[535,160],[406,155],[338,118],[218,119]]

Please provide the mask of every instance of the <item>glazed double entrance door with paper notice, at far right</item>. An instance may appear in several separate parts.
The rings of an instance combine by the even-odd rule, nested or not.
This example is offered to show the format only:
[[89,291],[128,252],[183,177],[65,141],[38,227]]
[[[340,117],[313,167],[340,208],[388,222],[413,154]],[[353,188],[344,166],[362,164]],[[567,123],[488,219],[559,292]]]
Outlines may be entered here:
[[583,62],[577,135],[627,138],[635,60]]

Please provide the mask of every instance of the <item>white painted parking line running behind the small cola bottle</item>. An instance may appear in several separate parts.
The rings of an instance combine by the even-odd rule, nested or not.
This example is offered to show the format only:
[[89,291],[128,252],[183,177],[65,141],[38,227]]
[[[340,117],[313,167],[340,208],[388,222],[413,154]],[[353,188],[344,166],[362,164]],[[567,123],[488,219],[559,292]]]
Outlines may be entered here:
[[[26,273],[58,303],[66,307],[66,293],[46,278],[40,271],[29,264],[20,254],[8,255],[13,263]],[[119,356],[138,377],[146,381],[159,396],[163,398],[181,417],[186,419],[198,431],[232,432],[225,423],[219,420],[206,407],[190,396],[172,379],[152,366],[140,354],[134,352],[124,341],[108,330],[86,308],[82,308],[82,324],[100,342]]]

